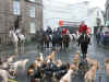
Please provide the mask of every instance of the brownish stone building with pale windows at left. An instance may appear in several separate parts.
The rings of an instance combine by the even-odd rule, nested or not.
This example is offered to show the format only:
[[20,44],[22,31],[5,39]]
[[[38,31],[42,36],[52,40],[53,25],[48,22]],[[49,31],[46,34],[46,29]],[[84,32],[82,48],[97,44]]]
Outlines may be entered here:
[[0,44],[9,43],[9,28],[21,16],[20,28],[29,39],[43,27],[43,0],[0,0]]

